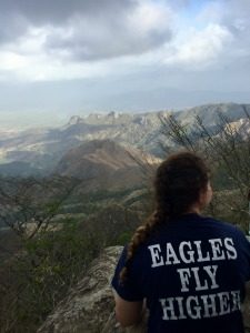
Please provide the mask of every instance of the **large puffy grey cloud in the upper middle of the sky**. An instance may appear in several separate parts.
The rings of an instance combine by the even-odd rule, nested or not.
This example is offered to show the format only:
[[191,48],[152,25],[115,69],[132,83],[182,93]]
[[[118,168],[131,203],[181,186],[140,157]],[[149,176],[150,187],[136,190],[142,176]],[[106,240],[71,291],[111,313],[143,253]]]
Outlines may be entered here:
[[67,51],[77,60],[107,59],[126,54],[140,54],[157,48],[171,38],[170,30],[151,28],[147,33],[127,24],[124,14],[82,18],[71,26],[70,37],[56,32],[48,37],[46,48],[50,52]]

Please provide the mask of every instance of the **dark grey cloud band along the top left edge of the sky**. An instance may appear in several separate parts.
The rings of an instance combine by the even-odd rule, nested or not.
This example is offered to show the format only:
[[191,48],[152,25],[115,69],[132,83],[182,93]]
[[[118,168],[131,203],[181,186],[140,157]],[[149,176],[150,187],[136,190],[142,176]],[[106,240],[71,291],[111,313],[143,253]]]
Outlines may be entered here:
[[106,14],[111,9],[128,10],[133,0],[0,0],[0,43],[21,37],[28,24],[40,27],[51,24],[63,27],[76,13]]

